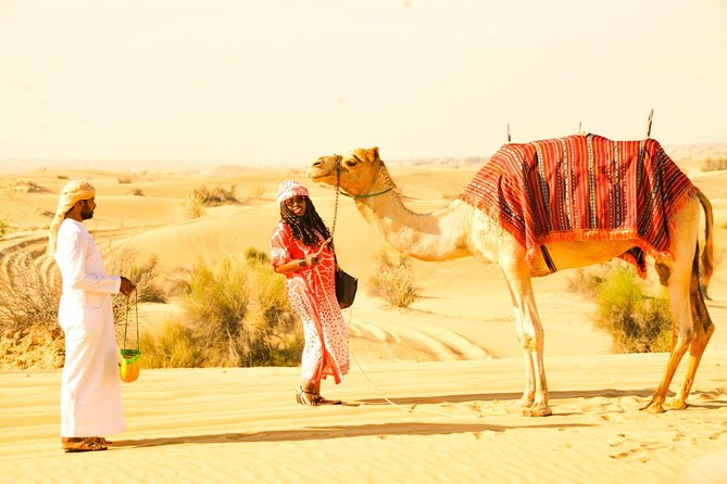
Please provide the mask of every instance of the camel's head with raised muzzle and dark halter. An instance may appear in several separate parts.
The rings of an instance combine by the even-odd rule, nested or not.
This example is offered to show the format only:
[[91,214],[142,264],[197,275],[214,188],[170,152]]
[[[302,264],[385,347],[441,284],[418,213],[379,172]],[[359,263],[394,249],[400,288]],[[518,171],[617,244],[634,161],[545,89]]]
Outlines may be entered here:
[[346,156],[333,154],[321,156],[308,169],[308,177],[315,182],[336,187],[337,170],[340,171],[339,187],[351,195],[365,195],[376,189],[381,158],[378,148],[358,148]]

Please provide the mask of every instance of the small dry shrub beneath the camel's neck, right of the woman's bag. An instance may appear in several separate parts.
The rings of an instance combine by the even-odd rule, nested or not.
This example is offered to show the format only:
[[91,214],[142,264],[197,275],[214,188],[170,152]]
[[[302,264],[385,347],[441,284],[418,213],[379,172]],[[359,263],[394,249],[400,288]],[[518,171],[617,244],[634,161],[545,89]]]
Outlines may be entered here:
[[369,280],[372,293],[394,307],[409,307],[418,297],[409,257],[386,249],[378,256],[378,270]]

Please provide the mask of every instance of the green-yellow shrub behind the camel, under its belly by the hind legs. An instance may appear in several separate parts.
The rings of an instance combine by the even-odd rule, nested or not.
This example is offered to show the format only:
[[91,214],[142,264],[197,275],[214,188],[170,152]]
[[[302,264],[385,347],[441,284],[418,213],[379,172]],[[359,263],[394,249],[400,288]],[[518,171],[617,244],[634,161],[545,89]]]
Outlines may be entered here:
[[614,264],[602,275],[586,276],[580,271],[577,279],[581,282],[572,283],[571,288],[594,297],[598,303],[596,326],[611,336],[614,351],[670,351],[668,300],[645,295],[632,267]]

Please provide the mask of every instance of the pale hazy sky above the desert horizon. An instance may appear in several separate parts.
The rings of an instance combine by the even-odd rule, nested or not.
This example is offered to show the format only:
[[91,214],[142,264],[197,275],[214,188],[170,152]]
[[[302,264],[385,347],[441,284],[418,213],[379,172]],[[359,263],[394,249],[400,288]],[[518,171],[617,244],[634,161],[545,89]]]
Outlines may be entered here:
[[727,141],[726,0],[0,0],[5,161],[489,156],[652,107]]

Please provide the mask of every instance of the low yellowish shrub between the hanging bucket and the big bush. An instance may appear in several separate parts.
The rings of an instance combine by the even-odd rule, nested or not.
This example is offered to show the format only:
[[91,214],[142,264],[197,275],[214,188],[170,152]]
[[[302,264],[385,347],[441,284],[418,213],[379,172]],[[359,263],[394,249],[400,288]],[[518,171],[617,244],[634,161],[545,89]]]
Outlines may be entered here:
[[141,333],[141,365],[145,368],[198,368],[204,354],[195,335],[179,321],[166,321],[158,333]]

